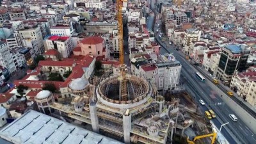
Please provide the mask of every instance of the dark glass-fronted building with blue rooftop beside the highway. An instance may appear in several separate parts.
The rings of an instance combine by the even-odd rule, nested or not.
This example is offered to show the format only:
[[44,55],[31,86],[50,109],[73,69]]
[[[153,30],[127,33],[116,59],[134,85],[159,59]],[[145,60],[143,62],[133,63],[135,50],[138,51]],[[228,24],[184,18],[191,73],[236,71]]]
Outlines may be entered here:
[[236,70],[239,72],[245,70],[249,54],[250,50],[239,47],[239,45],[225,45],[221,51],[216,77],[230,82]]

